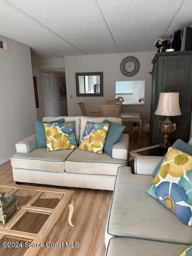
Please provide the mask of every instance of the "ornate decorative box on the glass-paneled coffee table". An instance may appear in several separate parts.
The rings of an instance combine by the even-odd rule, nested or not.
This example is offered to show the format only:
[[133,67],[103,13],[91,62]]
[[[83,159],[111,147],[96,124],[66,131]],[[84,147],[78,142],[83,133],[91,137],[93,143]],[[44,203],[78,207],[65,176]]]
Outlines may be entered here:
[[16,200],[15,194],[0,193],[0,221],[6,223],[6,219],[10,217],[15,210],[19,210],[20,206]]

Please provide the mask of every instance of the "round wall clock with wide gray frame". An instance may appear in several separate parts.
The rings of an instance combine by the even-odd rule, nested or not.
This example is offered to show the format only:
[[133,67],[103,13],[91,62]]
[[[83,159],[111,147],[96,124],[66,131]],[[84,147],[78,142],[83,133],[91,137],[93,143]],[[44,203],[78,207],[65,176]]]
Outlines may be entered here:
[[134,56],[124,58],[120,64],[120,70],[124,76],[134,76],[140,68],[140,63]]

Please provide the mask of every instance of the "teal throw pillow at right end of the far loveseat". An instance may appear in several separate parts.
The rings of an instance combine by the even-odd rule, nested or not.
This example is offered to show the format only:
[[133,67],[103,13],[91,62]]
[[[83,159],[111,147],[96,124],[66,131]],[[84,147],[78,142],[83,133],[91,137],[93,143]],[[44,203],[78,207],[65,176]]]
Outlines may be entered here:
[[112,147],[114,146],[114,144],[116,142],[118,142],[125,126],[120,125],[120,124],[112,123],[112,122],[110,122],[106,119],[103,121],[103,124],[104,123],[109,124],[109,130],[108,130],[108,133],[107,133],[107,137],[106,137],[106,140],[105,140],[103,151],[111,156],[112,155]]

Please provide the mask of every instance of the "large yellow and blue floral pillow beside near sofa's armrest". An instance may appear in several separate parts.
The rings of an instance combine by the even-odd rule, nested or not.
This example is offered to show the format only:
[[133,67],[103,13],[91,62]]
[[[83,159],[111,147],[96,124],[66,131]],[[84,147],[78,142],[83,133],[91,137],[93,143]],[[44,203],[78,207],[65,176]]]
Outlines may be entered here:
[[147,193],[192,226],[192,156],[169,148]]

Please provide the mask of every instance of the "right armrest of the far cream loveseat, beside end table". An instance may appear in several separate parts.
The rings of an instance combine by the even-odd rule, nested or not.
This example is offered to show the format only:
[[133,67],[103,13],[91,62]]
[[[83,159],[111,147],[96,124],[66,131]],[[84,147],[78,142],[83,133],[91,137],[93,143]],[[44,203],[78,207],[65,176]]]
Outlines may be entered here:
[[129,149],[129,134],[122,133],[120,139],[112,147],[112,158],[127,160]]

